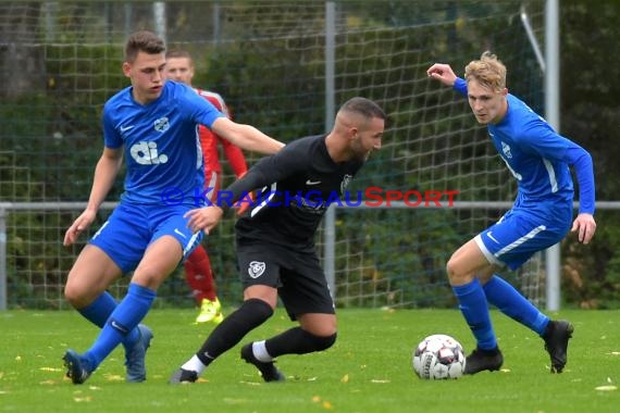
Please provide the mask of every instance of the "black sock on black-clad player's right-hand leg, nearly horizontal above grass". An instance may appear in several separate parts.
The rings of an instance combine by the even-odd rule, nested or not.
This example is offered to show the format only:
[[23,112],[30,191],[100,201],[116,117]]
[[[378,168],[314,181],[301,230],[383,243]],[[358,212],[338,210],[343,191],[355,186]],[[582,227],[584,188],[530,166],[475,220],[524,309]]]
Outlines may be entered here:
[[264,342],[266,352],[272,358],[282,354],[306,354],[326,350],[336,342],[336,333],[328,337],[314,336],[301,327],[290,328]]

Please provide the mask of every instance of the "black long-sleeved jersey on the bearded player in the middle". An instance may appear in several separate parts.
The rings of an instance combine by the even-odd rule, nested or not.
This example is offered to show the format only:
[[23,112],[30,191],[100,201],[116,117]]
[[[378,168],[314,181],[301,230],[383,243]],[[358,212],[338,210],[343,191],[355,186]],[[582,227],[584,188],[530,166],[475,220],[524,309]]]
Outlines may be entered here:
[[327,208],[339,203],[362,164],[361,160],[334,162],[325,135],[297,139],[261,159],[226,189],[234,199],[243,199],[260,188],[252,208],[237,221],[237,238],[313,248],[314,234]]

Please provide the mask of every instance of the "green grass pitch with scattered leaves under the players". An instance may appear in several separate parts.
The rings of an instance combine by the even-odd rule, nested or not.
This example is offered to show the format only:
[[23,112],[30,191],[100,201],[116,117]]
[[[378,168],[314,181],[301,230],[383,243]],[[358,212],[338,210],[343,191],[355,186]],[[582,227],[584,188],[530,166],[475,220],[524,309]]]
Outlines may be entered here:
[[[228,309],[230,310],[230,309]],[[562,311],[575,326],[565,373],[548,371],[543,341],[492,312],[505,355],[500,372],[456,380],[419,379],[411,352],[435,333],[474,341],[457,310],[339,310],[338,340],[330,350],[287,355],[286,383],[265,384],[239,359],[240,345],[193,385],[168,378],[202,343],[211,326],[189,310],[153,310],[148,380],[124,381],[116,349],[80,386],[64,378],[66,348],[85,351],[98,330],[76,312],[0,312],[0,412],[618,412],[620,311]],[[293,326],[282,310],[241,343]]]

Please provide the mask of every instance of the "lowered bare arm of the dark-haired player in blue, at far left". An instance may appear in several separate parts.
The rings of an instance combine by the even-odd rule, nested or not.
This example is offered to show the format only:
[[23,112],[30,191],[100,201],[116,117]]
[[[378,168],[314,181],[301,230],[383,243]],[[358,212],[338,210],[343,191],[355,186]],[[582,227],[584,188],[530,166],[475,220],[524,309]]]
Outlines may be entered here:
[[103,149],[103,153],[95,167],[95,177],[92,178],[88,204],[84,212],[69,227],[66,233],[64,233],[63,246],[71,246],[79,235],[92,224],[101,202],[106,200],[110,188],[112,188],[114,184],[122,161],[123,152],[121,149]]

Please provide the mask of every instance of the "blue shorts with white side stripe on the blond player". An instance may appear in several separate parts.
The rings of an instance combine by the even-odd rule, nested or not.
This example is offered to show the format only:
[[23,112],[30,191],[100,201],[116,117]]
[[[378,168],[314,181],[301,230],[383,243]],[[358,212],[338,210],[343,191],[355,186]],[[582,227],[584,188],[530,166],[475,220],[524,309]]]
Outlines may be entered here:
[[475,242],[489,263],[517,270],[534,253],[561,241],[572,225],[572,201],[514,206]]

